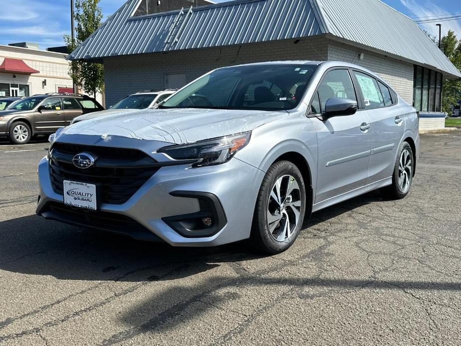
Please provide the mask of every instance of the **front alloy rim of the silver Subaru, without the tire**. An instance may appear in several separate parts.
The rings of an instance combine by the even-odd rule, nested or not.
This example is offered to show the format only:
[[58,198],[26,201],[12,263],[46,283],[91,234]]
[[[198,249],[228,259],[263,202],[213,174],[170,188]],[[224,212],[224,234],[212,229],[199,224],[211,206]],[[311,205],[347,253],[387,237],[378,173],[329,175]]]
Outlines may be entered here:
[[267,207],[267,223],[272,237],[280,242],[290,239],[300,222],[301,191],[292,175],[283,175],[272,187]]

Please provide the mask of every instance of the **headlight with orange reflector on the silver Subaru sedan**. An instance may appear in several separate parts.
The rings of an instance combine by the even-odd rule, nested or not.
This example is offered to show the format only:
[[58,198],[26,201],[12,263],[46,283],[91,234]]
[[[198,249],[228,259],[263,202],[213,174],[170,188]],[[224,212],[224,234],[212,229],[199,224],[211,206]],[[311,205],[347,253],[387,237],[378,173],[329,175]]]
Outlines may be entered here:
[[158,151],[174,160],[197,160],[193,167],[220,165],[228,162],[248,142],[251,132],[214,138],[193,144],[165,147]]

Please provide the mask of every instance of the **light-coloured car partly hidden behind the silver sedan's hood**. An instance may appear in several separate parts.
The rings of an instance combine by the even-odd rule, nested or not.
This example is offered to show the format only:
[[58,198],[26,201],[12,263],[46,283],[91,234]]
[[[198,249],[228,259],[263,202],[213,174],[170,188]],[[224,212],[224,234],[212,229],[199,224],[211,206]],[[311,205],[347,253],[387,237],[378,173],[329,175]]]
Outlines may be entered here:
[[135,109],[145,109],[154,107],[155,105],[159,104],[160,102],[168,98],[168,96],[176,92],[176,90],[177,89],[140,91],[136,94],[127,96],[126,98],[117,102],[114,106],[105,111],[84,114],[82,116],[76,117],[74,120],[72,120],[71,124],[78,123],[82,120],[97,118],[102,115],[107,115],[111,113],[122,113]]

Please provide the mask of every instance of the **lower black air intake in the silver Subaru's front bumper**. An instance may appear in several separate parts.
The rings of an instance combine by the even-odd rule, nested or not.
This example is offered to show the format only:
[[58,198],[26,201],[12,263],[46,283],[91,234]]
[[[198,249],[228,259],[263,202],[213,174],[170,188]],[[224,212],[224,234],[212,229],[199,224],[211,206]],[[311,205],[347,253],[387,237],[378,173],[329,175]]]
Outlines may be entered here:
[[154,233],[126,215],[74,208],[56,202],[47,203],[40,214],[48,219],[122,233],[140,240],[160,241]]

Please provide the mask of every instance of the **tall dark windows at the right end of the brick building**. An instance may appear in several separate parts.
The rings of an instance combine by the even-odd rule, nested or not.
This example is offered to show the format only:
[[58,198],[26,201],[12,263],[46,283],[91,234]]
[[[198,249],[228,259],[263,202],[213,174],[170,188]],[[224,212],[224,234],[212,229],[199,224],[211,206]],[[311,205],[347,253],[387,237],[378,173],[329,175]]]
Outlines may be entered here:
[[440,112],[442,81],[442,73],[415,65],[413,101],[417,111]]

